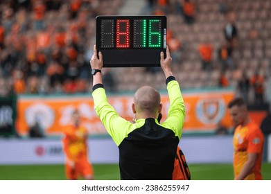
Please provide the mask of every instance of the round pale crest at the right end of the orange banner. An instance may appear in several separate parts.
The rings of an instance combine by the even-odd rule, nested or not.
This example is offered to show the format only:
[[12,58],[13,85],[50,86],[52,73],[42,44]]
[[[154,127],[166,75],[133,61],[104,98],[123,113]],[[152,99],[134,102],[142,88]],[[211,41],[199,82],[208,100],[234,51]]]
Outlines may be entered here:
[[196,114],[202,123],[216,124],[225,114],[225,101],[222,98],[202,98],[196,105]]

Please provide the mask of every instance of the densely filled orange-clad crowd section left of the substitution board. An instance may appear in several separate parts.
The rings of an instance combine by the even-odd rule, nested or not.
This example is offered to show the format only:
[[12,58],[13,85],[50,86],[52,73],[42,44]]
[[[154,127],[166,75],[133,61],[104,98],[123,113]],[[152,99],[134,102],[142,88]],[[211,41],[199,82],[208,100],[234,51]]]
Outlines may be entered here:
[[0,96],[89,91],[95,18],[122,2],[1,1]]

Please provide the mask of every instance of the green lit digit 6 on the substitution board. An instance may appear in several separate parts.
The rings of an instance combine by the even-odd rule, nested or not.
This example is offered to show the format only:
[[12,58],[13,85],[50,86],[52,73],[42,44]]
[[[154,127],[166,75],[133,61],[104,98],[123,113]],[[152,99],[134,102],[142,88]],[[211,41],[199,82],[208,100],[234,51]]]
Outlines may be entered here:
[[161,19],[149,20],[148,40],[149,47],[161,47]]

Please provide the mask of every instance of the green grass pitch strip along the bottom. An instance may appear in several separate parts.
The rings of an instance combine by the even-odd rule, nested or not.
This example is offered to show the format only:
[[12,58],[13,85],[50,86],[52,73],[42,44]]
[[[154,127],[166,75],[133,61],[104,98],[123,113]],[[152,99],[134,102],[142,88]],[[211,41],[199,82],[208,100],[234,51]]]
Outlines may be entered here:
[[[231,164],[190,164],[193,180],[232,180]],[[94,179],[118,180],[118,164],[95,164]],[[263,163],[263,179],[271,180],[271,164]],[[0,180],[65,180],[63,165],[0,166]]]

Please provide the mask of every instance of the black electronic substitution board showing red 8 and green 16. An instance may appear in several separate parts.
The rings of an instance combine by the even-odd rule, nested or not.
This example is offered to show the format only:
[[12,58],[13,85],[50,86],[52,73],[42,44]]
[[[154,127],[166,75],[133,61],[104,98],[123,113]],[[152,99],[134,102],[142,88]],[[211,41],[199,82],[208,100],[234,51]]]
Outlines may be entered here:
[[166,56],[165,16],[98,16],[96,48],[103,67],[157,67]]

